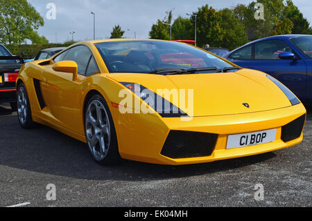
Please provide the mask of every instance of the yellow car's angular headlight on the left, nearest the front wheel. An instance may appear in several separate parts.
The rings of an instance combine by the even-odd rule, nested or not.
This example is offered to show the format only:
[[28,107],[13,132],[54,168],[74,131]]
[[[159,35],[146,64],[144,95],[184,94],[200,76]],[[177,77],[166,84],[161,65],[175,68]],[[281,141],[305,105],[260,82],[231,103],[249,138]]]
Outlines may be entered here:
[[152,90],[145,88],[137,83],[120,82],[125,88],[131,90],[135,95],[141,98],[143,101],[153,108],[162,117],[188,117],[187,113],[177,108],[177,106],[171,104],[163,97],[157,95]]

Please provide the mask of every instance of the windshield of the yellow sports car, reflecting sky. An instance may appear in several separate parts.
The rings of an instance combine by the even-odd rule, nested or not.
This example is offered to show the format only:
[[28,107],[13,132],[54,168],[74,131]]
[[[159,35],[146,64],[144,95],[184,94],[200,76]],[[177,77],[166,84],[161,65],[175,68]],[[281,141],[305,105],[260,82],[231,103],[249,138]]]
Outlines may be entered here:
[[180,42],[155,40],[95,44],[110,73],[151,73],[157,69],[233,67],[205,51]]

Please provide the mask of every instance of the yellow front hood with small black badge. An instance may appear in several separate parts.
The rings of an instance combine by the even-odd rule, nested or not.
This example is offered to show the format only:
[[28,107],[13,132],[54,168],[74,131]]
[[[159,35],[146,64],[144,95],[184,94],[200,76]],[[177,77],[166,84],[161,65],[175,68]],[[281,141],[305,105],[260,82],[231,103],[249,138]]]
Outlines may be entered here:
[[[118,82],[139,83],[153,90],[193,90],[193,111],[181,106],[171,98],[171,103],[191,117],[211,115],[233,115],[269,111],[291,106],[286,95],[266,77],[266,74],[252,69],[237,72],[209,74],[109,74]],[[160,95],[164,97],[164,95]],[[189,96],[191,98],[191,96]],[[179,97],[181,99],[181,96]],[[188,96],[183,100],[189,104]],[[193,102],[192,102],[193,101]],[[248,104],[248,105],[244,105]],[[248,107],[249,106],[249,107]]]

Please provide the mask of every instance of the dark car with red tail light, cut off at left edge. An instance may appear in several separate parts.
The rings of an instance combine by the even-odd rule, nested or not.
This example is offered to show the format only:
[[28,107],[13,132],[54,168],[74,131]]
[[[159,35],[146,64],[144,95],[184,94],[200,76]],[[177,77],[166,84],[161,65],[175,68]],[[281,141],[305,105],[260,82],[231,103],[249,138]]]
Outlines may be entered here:
[[15,81],[23,63],[22,58],[12,56],[10,51],[0,44],[0,104],[10,103],[14,111],[17,110]]

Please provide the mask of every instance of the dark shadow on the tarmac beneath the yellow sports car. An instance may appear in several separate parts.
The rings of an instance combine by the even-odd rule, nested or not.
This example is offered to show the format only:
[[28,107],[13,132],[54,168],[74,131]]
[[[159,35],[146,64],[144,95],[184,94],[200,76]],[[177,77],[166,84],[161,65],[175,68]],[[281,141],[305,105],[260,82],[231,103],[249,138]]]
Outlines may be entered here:
[[46,126],[24,130],[17,116],[0,118],[0,165],[88,180],[151,181],[214,174],[262,163],[274,153],[198,165],[153,165],[122,160],[118,165],[98,165],[85,143]]

